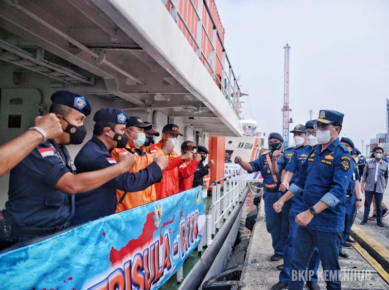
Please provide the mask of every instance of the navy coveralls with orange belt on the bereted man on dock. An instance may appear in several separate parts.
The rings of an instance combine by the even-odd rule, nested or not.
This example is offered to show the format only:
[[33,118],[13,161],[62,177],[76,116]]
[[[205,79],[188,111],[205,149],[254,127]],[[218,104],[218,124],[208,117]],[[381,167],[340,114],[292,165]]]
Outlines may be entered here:
[[[270,160],[271,159],[272,155],[270,154]],[[265,190],[262,197],[265,204],[266,230],[271,235],[274,253],[283,255],[282,214],[281,212],[276,213],[273,208],[273,204],[279,199],[281,172],[276,175],[278,182],[275,183],[273,175],[271,174],[271,163],[268,164],[266,155],[261,155],[258,159],[249,162],[249,164],[252,166],[252,172],[260,171],[264,178]]]

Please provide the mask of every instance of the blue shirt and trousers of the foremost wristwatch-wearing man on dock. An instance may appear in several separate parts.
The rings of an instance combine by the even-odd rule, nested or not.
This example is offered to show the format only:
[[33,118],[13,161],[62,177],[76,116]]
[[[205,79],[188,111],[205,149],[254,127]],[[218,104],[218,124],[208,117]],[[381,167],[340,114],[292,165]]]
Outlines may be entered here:
[[306,226],[299,225],[297,228],[288,285],[290,290],[303,289],[304,281],[299,279],[299,273],[304,273],[308,268],[316,247],[327,289],[341,289],[338,255],[341,233],[344,231],[346,191],[353,168],[350,151],[340,144],[338,138],[323,152],[321,146],[319,144],[308,154],[297,180],[289,188],[295,194],[303,189],[302,211],[308,210],[319,201],[329,205]]

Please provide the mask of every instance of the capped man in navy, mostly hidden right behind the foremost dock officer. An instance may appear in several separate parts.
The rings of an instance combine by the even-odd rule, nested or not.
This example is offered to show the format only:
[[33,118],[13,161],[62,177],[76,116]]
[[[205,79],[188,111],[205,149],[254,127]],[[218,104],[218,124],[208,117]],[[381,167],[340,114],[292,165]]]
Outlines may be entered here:
[[[355,154],[357,154],[354,148],[354,142],[348,137],[342,137],[340,139],[340,143],[346,146],[351,152],[351,168],[353,169],[353,175],[350,180],[350,186],[346,191],[346,216],[344,219],[344,231],[342,232],[342,241],[339,248],[339,256],[343,258],[347,258],[349,255],[343,251],[343,248],[351,248],[351,243],[355,243],[354,240],[350,239],[350,230],[354,223],[354,213],[356,211],[356,207],[362,206],[362,200],[359,195],[359,184],[358,184],[358,166],[355,162]],[[359,151],[358,151],[359,152]]]

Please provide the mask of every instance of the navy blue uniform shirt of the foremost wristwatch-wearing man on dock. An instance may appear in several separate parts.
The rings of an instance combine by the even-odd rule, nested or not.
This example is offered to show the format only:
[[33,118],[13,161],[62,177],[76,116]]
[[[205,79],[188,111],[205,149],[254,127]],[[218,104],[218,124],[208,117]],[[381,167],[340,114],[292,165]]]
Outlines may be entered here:
[[346,190],[350,186],[352,172],[350,151],[340,144],[339,138],[323,152],[320,144],[310,152],[289,190],[297,194],[303,189],[302,211],[319,201],[329,207],[318,213],[307,228],[322,232],[343,232]]

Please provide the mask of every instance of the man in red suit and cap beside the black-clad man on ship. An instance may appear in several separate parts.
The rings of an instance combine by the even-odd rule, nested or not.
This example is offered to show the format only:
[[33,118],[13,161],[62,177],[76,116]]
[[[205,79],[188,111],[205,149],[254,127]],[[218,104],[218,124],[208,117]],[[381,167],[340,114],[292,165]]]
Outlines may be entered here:
[[[195,145],[195,142],[193,141],[187,140],[181,144],[181,154],[186,154],[188,152],[195,154],[195,149],[197,149],[197,147]],[[195,171],[200,161],[201,161],[201,155],[195,154],[192,160],[185,160],[178,167],[179,192],[192,188],[193,179],[195,178]]]

